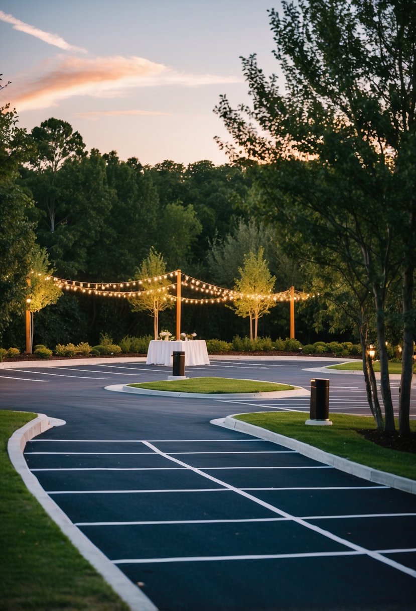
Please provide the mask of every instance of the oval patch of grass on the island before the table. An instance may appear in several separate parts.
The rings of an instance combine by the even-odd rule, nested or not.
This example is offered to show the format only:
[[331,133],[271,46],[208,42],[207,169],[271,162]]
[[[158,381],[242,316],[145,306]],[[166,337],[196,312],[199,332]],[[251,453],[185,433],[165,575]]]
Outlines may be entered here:
[[287,384],[240,380],[234,378],[190,378],[187,380],[160,380],[159,382],[142,382],[128,384],[135,388],[149,390],[170,390],[171,392],[195,392],[203,394],[237,393],[237,392],[272,392],[274,390],[293,390]]

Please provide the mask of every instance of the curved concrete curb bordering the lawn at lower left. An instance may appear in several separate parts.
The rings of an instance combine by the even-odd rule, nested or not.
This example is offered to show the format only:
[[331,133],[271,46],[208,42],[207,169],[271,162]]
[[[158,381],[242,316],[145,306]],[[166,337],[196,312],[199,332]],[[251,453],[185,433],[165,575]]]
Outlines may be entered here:
[[101,574],[106,582],[117,592],[118,596],[130,607],[131,611],[157,611],[157,607],[141,590],[129,580],[120,569],[110,562],[98,547],[81,532],[63,513],[62,509],[46,494],[37,478],[30,473],[23,456],[24,446],[29,439],[47,431],[52,426],[65,424],[63,420],[48,418],[45,414],[15,431],[7,444],[10,461],[24,481],[27,489],[41,504],[49,517],[59,526],[64,535],[77,547],[78,551]]

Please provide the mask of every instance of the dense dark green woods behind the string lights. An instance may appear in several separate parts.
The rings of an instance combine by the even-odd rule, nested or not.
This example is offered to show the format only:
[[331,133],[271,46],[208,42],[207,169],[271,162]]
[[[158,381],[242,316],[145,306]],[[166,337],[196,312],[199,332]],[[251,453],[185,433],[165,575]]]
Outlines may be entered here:
[[[24,215],[35,243],[45,249],[56,276],[87,282],[129,280],[138,277],[140,263],[153,247],[163,255],[168,271],[182,269],[232,288],[244,255],[263,247],[277,278],[276,291],[291,285],[310,288],[298,264],[279,249],[273,230],[250,218],[247,210],[256,189],[244,167],[215,166],[207,160],[186,167],[168,160],[155,166],[143,166],[137,158],[122,161],[114,151],[87,152],[81,134],[53,118],[30,134],[16,126],[14,130],[25,155],[16,164],[13,189],[24,197]],[[296,337],[304,342],[317,339],[312,331],[317,307],[314,302],[296,312]],[[21,316],[3,324],[3,345],[24,347],[22,308]],[[163,312],[160,323],[174,330],[174,311]],[[223,304],[182,308],[182,327],[199,337],[222,340],[249,331],[248,321]],[[35,314],[34,343],[95,344],[103,332],[118,341],[151,329],[148,314],[132,312],[125,299],[65,293]],[[260,320],[259,335],[289,335],[289,304]],[[344,338],[350,338],[348,332]]]

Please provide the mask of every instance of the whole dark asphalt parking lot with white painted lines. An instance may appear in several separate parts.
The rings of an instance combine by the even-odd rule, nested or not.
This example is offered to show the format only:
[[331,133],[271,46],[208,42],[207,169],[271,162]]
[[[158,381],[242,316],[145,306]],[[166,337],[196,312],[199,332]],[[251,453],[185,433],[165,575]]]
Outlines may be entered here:
[[[187,375],[309,388],[310,378],[329,377],[312,371],[325,364],[212,359]],[[209,423],[236,412],[308,412],[308,397],[104,390],[166,376],[142,362],[0,370],[1,408],[66,420],[26,445],[29,469],[160,611],[414,608],[413,495]],[[330,412],[369,415],[362,376],[331,375]]]

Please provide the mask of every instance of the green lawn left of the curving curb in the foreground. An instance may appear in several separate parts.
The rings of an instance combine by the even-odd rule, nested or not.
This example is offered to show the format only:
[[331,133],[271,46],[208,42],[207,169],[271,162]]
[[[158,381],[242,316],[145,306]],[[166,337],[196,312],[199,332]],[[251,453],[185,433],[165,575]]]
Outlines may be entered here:
[[0,411],[0,609],[127,611],[27,491],[10,463],[9,437],[35,416]]

